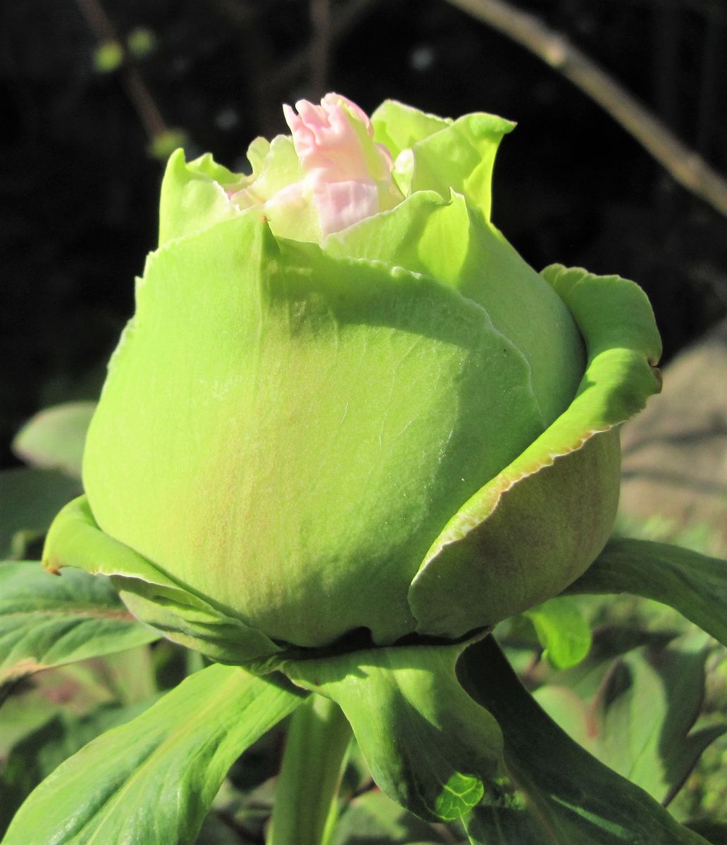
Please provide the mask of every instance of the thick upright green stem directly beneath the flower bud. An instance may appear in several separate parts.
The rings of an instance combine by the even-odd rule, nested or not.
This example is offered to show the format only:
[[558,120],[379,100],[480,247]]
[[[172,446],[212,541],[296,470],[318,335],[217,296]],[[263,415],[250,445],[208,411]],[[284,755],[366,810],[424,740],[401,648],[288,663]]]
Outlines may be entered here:
[[310,695],[293,713],[267,845],[326,845],[330,840],[350,739],[341,708],[322,695]]

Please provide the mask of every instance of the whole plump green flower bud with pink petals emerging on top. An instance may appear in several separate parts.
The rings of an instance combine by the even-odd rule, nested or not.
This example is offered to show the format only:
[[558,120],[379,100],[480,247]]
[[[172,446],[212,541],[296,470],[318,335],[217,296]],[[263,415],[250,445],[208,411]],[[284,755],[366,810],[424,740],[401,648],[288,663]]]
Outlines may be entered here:
[[297,108],[249,176],[172,155],[87,500],[46,545],[234,662],[555,596],[609,535],[616,427],[659,389],[636,285],[538,275],[489,221],[511,123]]

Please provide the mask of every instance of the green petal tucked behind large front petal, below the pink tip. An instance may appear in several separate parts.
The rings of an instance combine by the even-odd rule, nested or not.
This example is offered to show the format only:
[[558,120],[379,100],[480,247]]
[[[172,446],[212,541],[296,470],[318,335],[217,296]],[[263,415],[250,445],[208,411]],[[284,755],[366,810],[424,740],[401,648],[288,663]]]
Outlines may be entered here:
[[548,282],[462,194],[420,191],[326,238],[325,251],[424,273],[481,305],[530,367],[543,428],[571,403],[585,368],[581,336]]

